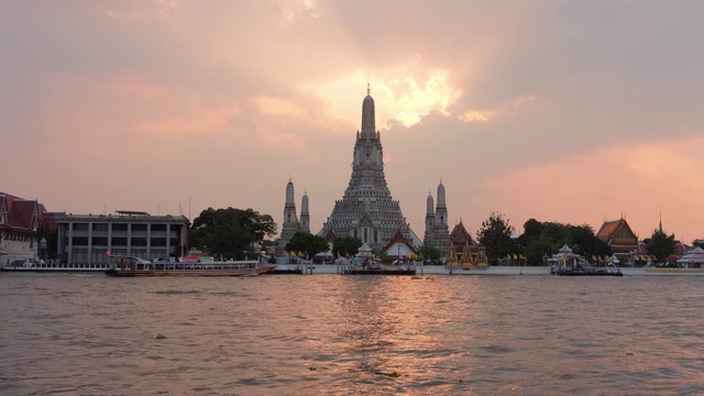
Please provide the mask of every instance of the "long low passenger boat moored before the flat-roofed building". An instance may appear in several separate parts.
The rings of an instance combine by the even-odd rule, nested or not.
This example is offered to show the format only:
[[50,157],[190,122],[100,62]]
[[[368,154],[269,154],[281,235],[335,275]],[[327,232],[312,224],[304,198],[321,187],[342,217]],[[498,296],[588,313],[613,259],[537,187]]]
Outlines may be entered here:
[[179,261],[150,262],[134,256],[119,256],[106,275],[108,276],[253,276],[274,270],[265,256],[249,261]]

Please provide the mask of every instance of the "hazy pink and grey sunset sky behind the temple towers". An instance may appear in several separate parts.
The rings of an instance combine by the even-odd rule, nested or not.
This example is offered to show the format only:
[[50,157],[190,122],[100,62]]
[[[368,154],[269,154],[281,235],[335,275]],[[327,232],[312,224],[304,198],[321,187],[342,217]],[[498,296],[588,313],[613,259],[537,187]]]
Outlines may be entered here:
[[0,2],[0,191],[50,211],[252,208],[311,231],[367,84],[416,234],[501,213],[704,238],[704,2]]

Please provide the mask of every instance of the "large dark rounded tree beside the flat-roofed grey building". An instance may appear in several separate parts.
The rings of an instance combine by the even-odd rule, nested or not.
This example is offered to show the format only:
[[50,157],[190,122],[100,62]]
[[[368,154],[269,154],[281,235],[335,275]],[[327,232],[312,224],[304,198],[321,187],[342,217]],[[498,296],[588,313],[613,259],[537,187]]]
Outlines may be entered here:
[[241,258],[254,243],[276,233],[276,223],[268,215],[252,209],[212,209],[200,212],[190,228],[190,245],[208,254]]

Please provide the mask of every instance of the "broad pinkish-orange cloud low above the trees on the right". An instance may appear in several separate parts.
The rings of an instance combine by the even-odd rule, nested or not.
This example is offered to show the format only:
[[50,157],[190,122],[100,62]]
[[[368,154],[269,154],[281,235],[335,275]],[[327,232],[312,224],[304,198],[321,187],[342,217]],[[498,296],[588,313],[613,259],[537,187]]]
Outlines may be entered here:
[[484,179],[486,200],[474,205],[510,213],[517,228],[532,217],[598,229],[604,217],[624,213],[641,238],[657,228],[662,209],[669,232],[694,239],[701,232],[696,224],[704,221],[691,209],[704,195],[697,183],[702,146],[701,136],[635,143],[514,169]]

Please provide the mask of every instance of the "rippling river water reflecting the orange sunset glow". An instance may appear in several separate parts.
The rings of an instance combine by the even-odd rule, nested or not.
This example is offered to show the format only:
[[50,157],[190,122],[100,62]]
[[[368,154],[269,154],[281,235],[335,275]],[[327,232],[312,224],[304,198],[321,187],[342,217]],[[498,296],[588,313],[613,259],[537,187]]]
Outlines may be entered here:
[[0,394],[703,394],[703,283],[3,273]]

